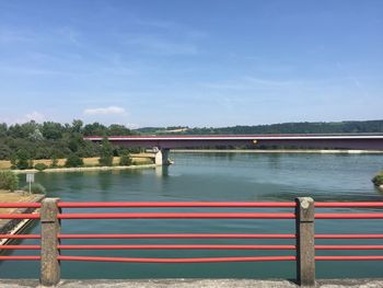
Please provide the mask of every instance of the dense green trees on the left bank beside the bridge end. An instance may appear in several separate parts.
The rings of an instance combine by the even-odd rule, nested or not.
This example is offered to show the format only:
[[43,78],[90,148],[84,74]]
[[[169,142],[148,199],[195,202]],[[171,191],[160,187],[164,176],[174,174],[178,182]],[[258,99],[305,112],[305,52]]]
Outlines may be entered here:
[[81,165],[82,158],[101,157],[101,162],[112,164],[113,157],[128,155],[134,150],[112,146],[107,141],[97,145],[83,140],[83,137],[135,134],[124,125],[84,125],[80,119],[71,124],[38,124],[34,120],[10,126],[0,124],[0,160],[11,160],[13,166],[19,169],[31,168],[31,160],[37,159],[50,159],[55,165],[57,159],[65,158],[69,160],[68,165]]

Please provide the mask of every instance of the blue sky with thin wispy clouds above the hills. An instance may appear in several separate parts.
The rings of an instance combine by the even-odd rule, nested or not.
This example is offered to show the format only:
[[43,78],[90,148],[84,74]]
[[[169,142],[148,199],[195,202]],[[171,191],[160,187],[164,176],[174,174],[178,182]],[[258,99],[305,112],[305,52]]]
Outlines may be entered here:
[[0,122],[382,119],[383,1],[0,1]]

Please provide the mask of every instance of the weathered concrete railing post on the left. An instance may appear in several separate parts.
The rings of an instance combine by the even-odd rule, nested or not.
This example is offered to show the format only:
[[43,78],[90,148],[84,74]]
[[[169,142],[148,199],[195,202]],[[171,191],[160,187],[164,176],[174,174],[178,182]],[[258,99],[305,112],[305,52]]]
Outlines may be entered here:
[[57,215],[60,212],[57,204],[59,198],[45,198],[42,201],[40,224],[42,224],[42,261],[40,261],[40,285],[55,286],[60,281],[60,254],[57,245],[60,233],[60,220]]

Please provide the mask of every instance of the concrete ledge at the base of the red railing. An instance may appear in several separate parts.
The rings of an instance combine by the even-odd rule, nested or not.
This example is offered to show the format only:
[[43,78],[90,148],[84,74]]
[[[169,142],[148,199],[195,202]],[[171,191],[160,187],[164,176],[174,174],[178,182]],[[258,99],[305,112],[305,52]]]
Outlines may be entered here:
[[[38,280],[0,280],[2,288],[42,287]],[[152,280],[62,280],[58,287],[65,288],[297,288],[288,280],[253,280],[253,279],[152,279]],[[383,279],[334,279],[318,280],[315,287],[340,288],[363,287],[381,288]]]

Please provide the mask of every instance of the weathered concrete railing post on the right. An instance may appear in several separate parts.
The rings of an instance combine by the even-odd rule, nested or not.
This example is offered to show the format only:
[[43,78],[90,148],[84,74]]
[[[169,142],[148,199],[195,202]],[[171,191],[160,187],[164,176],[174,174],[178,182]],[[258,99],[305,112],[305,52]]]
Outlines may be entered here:
[[295,198],[297,203],[297,280],[301,286],[315,286],[314,200]]

